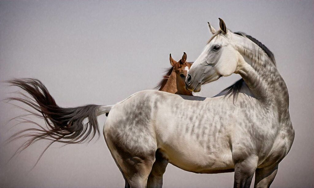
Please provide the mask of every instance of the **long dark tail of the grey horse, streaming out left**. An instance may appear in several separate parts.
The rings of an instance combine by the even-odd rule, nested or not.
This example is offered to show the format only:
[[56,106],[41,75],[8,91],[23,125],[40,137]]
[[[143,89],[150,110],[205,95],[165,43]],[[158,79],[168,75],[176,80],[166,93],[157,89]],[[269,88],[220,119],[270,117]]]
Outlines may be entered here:
[[[37,79],[14,79],[8,81],[8,83],[26,91],[26,93],[18,92],[19,97],[10,97],[8,100],[23,102],[33,108],[35,112],[22,107],[20,108],[33,116],[43,118],[46,122],[46,127],[44,127],[25,119],[24,116],[17,117],[23,120],[22,123],[34,123],[38,128],[28,128],[19,131],[10,138],[10,141],[13,141],[22,137],[30,137],[15,154],[41,139],[52,141],[46,149],[54,142],[76,144],[87,140],[90,141],[95,137],[96,133],[99,135],[97,116],[108,113],[112,107],[90,104],[80,107],[63,108],[57,105],[46,86]],[[88,122],[84,124],[83,120],[85,118],[88,118]]]

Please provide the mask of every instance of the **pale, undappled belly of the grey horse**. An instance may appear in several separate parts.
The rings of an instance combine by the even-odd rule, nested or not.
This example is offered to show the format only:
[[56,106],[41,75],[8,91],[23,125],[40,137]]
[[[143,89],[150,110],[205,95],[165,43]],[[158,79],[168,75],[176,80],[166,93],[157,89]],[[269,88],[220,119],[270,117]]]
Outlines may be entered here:
[[172,138],[160,146],[172,165],[196,173],[217,173],[234,168],[231,150],[222,144],[208,149],[208,144],[200,144],[193,138]]

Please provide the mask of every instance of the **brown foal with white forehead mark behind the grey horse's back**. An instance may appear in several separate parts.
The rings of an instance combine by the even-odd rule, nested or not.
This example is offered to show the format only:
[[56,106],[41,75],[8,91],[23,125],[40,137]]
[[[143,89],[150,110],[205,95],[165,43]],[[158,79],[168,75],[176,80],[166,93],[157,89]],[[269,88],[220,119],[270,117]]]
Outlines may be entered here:
[[192,91],[185,88],[185,78],[192,65],[192,63],[189,63],[186,60],[187,54],[185,52],[183,52],[182,59],[178,62],[172,59],[170,54],[170,64],[172,67],[166,70],[166,75],[155,89],[159,88],[159,91],[179,95],[192,95]]

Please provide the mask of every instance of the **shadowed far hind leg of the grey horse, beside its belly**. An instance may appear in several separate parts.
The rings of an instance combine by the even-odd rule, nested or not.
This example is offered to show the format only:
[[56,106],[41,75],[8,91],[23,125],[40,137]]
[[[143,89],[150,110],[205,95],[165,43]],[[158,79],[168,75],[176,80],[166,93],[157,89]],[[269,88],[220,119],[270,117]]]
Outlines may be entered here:
[[155,162],[147,180],[147,187],[162,187],[163,175],[165,173],[168,160],[163,156],[160,149],[155,154]]

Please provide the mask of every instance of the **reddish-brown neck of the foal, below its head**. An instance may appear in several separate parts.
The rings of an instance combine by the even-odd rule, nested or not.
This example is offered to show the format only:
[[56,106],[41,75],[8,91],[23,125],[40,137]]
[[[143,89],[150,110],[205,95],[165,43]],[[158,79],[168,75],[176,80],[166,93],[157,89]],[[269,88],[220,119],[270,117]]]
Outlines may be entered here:
[[159,91],[165,91],[168,93],[179,94],[179,95],[192,95],[191,91],[185,89],[185,85],[181,84],[180,77],[177,77],[176,73],[172,71],[171,75],[167,79],[164,86],[161,86]]

